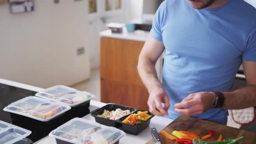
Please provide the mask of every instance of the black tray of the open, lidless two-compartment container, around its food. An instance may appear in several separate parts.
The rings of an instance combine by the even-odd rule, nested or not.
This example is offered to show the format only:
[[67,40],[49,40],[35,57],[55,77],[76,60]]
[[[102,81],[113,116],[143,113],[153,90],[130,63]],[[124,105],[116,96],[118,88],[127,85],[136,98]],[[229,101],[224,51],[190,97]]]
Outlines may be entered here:
[[127,106],[118,105],[118,104],[107,104],[106,106],[96,109],[94,112],[91,113],[91,116],[93,116],[95,118],[95,121],[97,123],[100,123],[102,125],[112,126],[115,128],[120,128],[125,133],[129,133],[129,134],[133,134],[133,135],[138,135],[139,133],[144,131],[144,129],[149,126],[151,118],[155,116],[152,113],[148,112],[147,114],[152,115],[152,116],[147,121],[145,121],[141,125],[129,125],[126,123],[122,123],[122,121],[125,120],[125,118],[131,114],[125,115],[118,120],[110,120],[107,118],[97,116],[97,115],[101,115],[104,112],[104,109],[109,110],[109,111],[116,110],[116,109],[130,110],[131,114],[137,113],[138,111],[143,112],[144,110],[135,109],[132,107],[127,107]]

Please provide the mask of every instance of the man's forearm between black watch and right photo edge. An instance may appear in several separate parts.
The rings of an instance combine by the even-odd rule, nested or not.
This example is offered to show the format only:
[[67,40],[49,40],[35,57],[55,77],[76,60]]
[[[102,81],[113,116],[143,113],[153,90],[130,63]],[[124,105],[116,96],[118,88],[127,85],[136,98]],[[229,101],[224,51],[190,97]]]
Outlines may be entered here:
[[256,85],[237,89],[232,92],[223,92],[225,109],[245,109],[256,106]]

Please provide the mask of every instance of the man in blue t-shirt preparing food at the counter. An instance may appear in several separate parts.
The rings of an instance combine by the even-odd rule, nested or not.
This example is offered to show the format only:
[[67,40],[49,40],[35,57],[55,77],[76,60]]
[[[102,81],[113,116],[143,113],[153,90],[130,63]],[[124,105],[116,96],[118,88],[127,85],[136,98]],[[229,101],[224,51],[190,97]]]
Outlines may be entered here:
[[[155,63],[164,50],[161,84]],[[231,91],[241,64],[248,86]],[[227,109],[256,106],[256,9],[243,0],[165,0],[138,70],[153,114],[227,124]]]

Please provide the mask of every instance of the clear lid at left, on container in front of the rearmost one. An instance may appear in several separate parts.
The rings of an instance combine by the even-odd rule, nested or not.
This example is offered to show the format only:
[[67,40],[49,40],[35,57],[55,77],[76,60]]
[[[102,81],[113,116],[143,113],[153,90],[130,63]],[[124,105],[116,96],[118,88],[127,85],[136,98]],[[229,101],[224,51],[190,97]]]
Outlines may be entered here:
[[36,96],[28,96],[9,104],[3,110],[45,122],[69,109],[71,107],[64,104],[55,103]]

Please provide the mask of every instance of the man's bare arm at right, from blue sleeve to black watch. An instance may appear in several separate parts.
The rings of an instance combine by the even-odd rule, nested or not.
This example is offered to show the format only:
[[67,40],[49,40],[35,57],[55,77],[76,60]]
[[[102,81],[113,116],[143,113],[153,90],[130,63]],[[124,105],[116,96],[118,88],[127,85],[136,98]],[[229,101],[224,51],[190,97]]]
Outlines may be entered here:
[[243,61],[248,86],[232,92],[224,92],[225,109],[245,109],[256,106],[256,62]]

